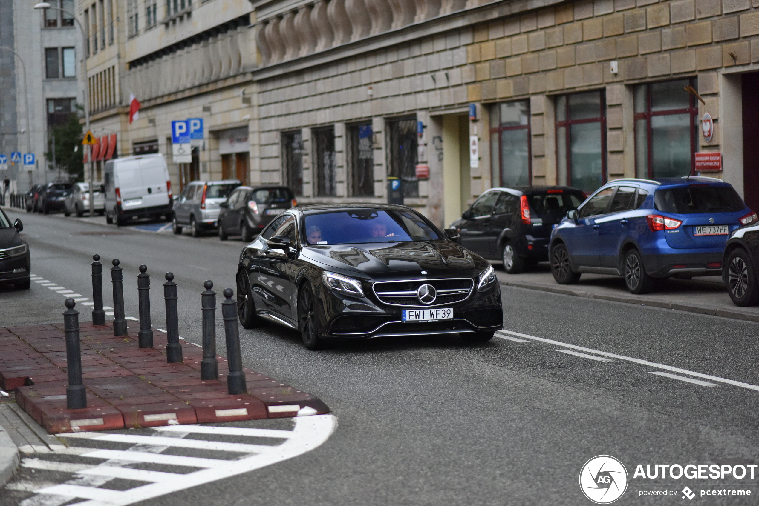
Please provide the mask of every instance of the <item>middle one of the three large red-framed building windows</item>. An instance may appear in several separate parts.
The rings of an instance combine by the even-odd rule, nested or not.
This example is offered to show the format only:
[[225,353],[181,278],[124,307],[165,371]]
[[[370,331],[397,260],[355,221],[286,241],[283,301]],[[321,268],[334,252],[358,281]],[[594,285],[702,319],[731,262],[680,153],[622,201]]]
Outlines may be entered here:
[[606,100],[602,91],[556,97],[560,185],[592,192],[606,182]]

